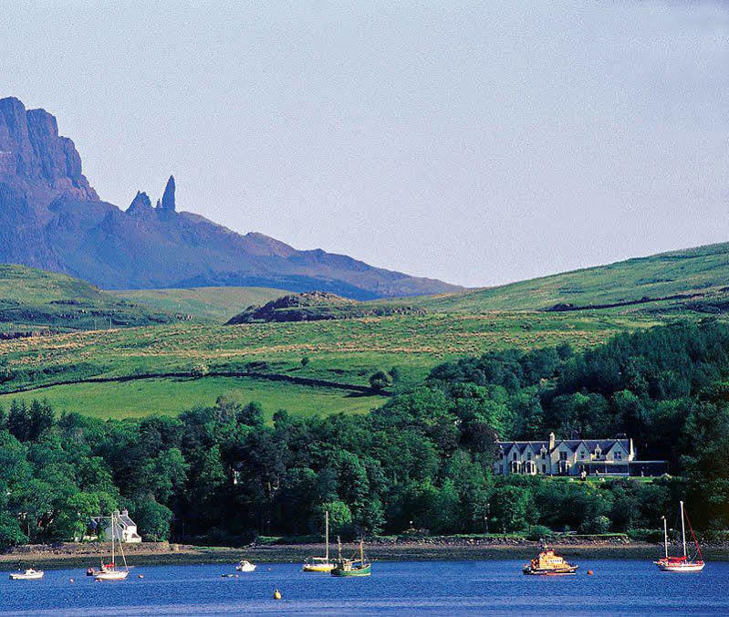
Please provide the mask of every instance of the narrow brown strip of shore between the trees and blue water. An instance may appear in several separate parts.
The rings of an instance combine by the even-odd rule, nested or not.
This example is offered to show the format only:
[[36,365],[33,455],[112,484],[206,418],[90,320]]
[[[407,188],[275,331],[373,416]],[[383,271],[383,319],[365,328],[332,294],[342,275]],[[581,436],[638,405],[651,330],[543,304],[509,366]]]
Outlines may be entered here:
[[[550,543],[561,555],[573,559],[656,559],[661,556],[662,545],[646,542],[622,544],[603,543]],[[349,555],[356,545],[342,545]],[[370,558],[376,561],[467,561],[488,559],[531,559],[541,548],[540,542],[528,541],[518,545],[490,544],[434,545],[424,542],[371,544],[367,547]],[[336,550],[336,549],[335,549]],[[258,563],[301,563],[311,555],[324,553],[323,544],[277,544],[268,546],[196,547],[161,543],[143,543],[125,547],[125,554],[133,566],[233,564],[240,559]],[[330,547],[331,553],[331,547]],[[729,547],[707,546],[703,549],[707,561],[729,561]],[[18,547],[0,555],[0,570],[22,570],[34,567],[46,570],[87,569],[97,566],[108,552],[106,545],[76,545]]]

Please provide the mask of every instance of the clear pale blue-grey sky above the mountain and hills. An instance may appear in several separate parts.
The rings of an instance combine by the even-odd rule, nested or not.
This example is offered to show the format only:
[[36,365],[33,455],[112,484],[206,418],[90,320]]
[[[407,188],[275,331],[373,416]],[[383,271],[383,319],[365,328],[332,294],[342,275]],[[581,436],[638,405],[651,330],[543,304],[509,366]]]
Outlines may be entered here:
[[469,287],[729,241],[729,4],[4,0],[105,201]]

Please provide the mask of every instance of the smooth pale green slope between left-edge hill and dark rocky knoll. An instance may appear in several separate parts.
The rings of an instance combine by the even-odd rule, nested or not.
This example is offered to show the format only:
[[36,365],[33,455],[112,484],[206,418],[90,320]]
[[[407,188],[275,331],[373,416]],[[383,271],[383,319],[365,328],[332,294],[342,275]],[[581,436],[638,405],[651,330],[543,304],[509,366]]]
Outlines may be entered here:
[[207,323],[224,323],[245,308],[266,304],[288,292],[273,288],[189,288],[115,289],[104,293],[151,310],[189,315]]

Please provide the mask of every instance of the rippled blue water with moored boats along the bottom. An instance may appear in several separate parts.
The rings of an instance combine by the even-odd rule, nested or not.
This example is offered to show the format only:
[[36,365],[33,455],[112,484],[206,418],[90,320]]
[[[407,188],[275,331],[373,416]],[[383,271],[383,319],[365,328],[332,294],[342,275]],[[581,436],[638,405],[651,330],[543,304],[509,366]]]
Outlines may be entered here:
[[[221,577],[233,565],[145,567],[104,583],[84,570],[47,570],[36,581],[3,572],[0,614],[729,613],[729,563],[710,563],[699,574],[659,573],[644,561],[579,563],[578,575],[550,578],[526,577],[514,560],[376,562],[362,579],[305,574],[288,564],[259,565],[237,579]],[[283,601],[272,599],[276,588]]]

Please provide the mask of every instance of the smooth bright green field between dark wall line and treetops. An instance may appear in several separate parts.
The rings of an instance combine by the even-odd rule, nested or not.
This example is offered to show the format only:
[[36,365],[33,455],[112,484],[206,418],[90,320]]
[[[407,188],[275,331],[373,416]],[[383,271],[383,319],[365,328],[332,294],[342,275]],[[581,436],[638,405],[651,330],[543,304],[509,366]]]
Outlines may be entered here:
[[366,413],[386,400],[377,395],[247,377],[203,377],[57,385],[34,392],[0,395],[0,405],[6,409],[12,399],[30,403],[33,398],[46,398],[58,413],[78,412],[106,419],[176,415],[197,405],[213,405],[219,396],[238,403],[265,403],[269,419],[278,409],[299,415]]

